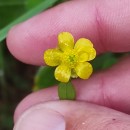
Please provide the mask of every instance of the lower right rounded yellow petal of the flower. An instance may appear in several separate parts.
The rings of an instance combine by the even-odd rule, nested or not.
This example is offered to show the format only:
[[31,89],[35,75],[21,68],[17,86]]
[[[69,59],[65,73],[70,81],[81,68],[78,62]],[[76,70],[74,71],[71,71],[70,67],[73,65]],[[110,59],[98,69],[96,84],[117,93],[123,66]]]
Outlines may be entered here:
[[88,79],[92,74],[93,68],[90,63],[83,62],[83,63],[79,63],[76,66],[75,71],[81,79]]

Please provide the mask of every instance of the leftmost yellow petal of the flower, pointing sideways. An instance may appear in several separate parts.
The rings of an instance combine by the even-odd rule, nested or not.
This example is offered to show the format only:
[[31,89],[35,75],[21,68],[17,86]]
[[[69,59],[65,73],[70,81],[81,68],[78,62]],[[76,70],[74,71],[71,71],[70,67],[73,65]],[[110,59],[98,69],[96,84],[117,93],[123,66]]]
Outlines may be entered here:
[[49,66],[57,66],[61,62],[61,51],[58,49],[48,49],[44,52],[44,61]]

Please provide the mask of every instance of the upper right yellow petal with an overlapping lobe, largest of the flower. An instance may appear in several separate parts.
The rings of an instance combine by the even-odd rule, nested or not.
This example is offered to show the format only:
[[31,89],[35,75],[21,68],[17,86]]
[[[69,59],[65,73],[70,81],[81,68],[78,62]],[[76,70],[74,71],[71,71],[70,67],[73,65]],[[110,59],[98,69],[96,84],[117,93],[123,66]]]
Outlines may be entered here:
[[96,57],[96,50],[93,48],[92,42],[88,39],[85,39],[85,38],[79,39],[76,42],[74,49],[78,53],[85,53],[84,56],[82,57],[85,58],[85,55],[86,55],[87,61],[93,60]]

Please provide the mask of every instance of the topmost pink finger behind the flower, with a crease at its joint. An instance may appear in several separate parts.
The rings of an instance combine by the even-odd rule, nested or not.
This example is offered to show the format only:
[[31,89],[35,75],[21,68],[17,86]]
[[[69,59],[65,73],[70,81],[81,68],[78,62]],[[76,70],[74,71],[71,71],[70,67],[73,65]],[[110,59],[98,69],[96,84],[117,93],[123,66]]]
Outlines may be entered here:
[[90,39],[98,53],[129,51],[129,7],[129,0],[69,1],[14,27],[7,46],[16,58],[35,65],[44,64],[44,51],[56,47],[62,31],[75,40]]

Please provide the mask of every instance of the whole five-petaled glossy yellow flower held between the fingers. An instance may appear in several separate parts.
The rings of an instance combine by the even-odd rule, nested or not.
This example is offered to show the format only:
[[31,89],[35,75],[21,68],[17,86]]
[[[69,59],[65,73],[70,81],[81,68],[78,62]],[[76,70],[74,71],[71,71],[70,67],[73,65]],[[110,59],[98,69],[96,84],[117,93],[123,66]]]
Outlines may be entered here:
[[58,47],[44,53],[44,61],[49,66],[57,66],[55,78],[68,82],[70,78],[88,79],[93,68],[87,61],[93,60],[96,51],[90,40],[80,38],[74,45],[74,38],[69,32],[58,35]]

